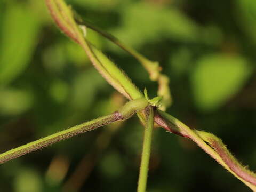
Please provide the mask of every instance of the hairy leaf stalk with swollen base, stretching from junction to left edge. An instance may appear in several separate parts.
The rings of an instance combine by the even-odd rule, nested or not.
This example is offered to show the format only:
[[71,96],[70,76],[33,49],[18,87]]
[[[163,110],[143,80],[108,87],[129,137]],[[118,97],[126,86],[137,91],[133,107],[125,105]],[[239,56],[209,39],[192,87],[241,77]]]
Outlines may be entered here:
[[48,137],[38,139],[36,141],[30,142],[26,145],[20,146],[18,148],[6,151],[0,154],[0,163],[10,161],[11,159],[20,157],[31,151],[41,149],[43,147],[49,146],[55,142],[68,139],[77,134],[81,134],[87,131],[94,130],[98,127],[130,118],[134,113],[143,110],[148,105],[146,99],[137,99],[127,102],[121,109],[115,111],[113,114],[99,117],[89,122],[85,122],[81,125],[76,125],[69,129],[60,131],[58,133],[49,135]]

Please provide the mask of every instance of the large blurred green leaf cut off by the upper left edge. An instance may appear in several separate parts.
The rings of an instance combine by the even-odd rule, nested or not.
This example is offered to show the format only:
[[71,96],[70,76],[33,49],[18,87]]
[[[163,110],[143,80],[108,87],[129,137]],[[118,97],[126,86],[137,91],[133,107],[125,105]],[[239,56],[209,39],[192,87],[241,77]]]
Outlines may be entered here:
[[29,7],[8,3],[3,18],[0,85],[12,82],[27,68],[39,32],[38,18]]

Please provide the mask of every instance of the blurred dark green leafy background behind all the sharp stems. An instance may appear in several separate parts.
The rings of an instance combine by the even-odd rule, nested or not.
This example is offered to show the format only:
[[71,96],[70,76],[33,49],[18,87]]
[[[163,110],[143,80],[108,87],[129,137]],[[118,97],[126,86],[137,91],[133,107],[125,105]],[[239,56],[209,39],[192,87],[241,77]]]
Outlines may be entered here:
[[[78,13],[170,77],[167,110],[218,135],[256,170],[255,0],[69,0]],[[140,64],[89,30],[143,90]],[[125,100],[62,35],[43,0],[0,1],[0,152],[106,115]],[[0,166],[0,191],[135,191],[143,128],[122,124],[59,142]],[[189,140],[154,131],[148,192],[250,191]]]

